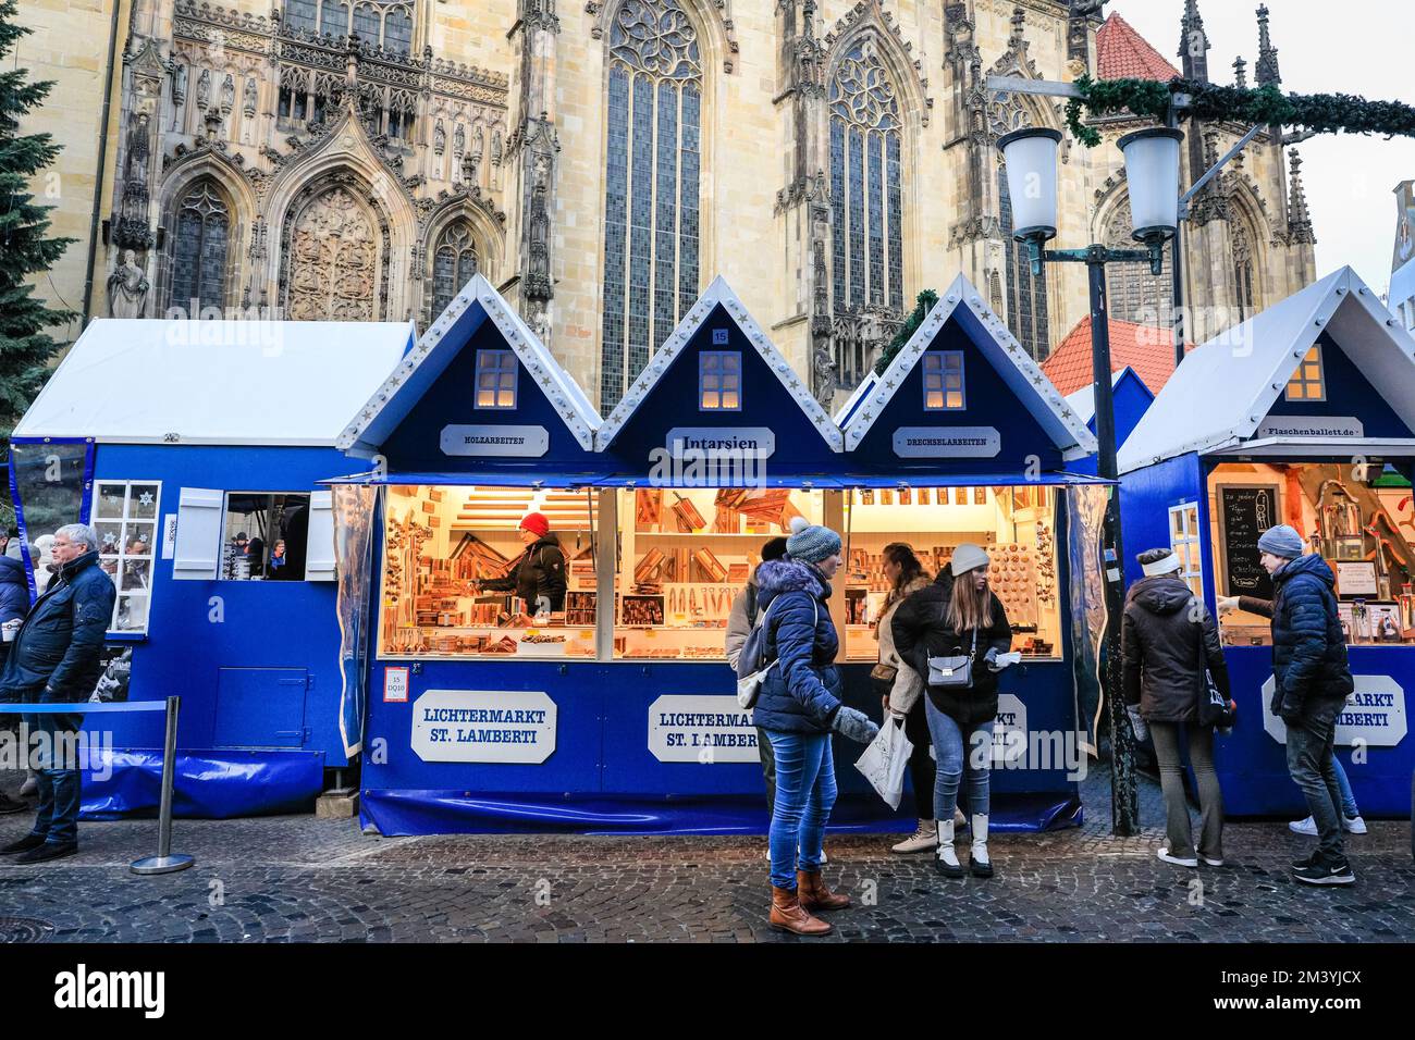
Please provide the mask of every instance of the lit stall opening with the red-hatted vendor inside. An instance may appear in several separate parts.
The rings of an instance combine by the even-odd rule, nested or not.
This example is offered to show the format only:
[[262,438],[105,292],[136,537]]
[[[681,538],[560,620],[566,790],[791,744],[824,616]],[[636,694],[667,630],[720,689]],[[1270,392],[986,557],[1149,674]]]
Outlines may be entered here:
[[[519,596],[526,553],[521,518],[539,512],[565,559],[565,597],[542,607]],[[385,499],[383,658],[593,658],[599,501],[584,491],[392,485]]]

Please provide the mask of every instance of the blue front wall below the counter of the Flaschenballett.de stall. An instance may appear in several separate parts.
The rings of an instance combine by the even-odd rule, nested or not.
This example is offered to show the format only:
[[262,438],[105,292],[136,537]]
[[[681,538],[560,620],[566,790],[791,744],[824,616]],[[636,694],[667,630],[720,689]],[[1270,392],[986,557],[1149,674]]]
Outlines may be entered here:
[[[1264,729],[1262,685],[1272,676],[1271,647],[1227,647],[1238,724],[1214,747],[1215,768],[1231,816],[1309,815],[1307,804],[1288,774],[1286,747]],[[1407,717],[1415,706],[1415,649],[1408,647],[1351,647],[1351,672],[1388,675],[1405,691]],[[1409,819],[1411,773],[1415,771],[1415,736],[1395,747],[1367,747],[1365,761],[1354,763],[1351,749],[1337,744],[1336,756],[1351,781],[1361,814],[1373,818]]]

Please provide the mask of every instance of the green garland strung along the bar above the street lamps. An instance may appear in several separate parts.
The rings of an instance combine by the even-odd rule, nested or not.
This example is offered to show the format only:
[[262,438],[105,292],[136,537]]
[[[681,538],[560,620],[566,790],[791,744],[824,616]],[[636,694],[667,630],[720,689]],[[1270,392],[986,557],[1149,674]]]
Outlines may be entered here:
[[1085,75],[1074,86],[1081,96],[1067,102],[1067,129],[1088,149],[1101,143],[1101,133],[1081,122],[1082,108],[1091,116],[1129,110],[1163,123],[1176,93],[1193,98],[1193,103],[1179,112],[1183,119],[1295,126],[1316,133],[1343,130],[1415,137],[1415,108],[1395,100],[1367,100],[1350,93],[1282,93],[1272,83],[1244,88],[1193,79],[1162,83],[1155,79],[1091,79]]

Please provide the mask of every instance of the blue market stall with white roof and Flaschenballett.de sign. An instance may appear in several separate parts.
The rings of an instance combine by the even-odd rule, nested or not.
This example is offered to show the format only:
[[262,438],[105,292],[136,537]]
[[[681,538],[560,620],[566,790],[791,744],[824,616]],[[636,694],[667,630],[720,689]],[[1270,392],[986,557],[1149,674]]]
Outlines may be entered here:
[[[1119,453],[1128,550],[1173,546],[1210,607],[1271,597],[1257,539],[1275,524],[1329,562],[1356,676],[1337,754],[1374,816],[1408,818],[1415,768],[1412,430],[1415,341],[1343,267],[1190,352]],[[1269,624],[1235,611],[1220,627],[1240,719],[1215,751],[1225,808],[1303,815],[1269,710]]]

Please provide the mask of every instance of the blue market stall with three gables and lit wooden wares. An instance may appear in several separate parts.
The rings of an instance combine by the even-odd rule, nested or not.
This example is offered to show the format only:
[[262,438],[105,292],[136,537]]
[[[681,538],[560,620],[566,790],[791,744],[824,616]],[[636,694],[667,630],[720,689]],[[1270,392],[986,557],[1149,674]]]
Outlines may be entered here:
[[[1074,819],[1064,744],[1088,736],[1077,674],[1094,682],[1099,499],[1063,466],[1092,439],[964,280],[841,415],[843,429],[722,280],[603,422],[495,290],[470,283],[341,437],[375,467],[331,481],[337,501],[366,495],[352,525],[376,518],[365,822],[764,829],[723,627],[763,543],[798,514],[849,539],[832,608],[848,699],[874,713],[879,549],[903,538],[937,567],[961,541],[995,545],[1029,655],[1005,730],[1023,746],[1058,737],[1046,768],[1013,741],[1002,815]],[[541,617],[481,587],[515,565],[529,511],[569,572],[563,608]],[[839,751],[836,822],[877,828],[887,809],[849,767],[859,749]]]

